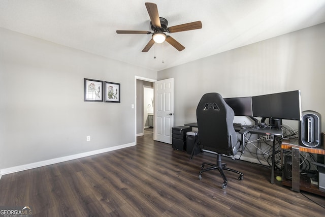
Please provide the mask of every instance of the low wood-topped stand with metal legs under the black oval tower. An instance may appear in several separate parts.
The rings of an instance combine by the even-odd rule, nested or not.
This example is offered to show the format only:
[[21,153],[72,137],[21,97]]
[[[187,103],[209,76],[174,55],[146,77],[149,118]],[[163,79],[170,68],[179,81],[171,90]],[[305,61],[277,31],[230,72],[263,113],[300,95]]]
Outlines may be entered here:
[[283,149],[291,149],[291,173],[292,173],[292,182],[285,179],[282,180],[282,184],[288,187],[291,187],[293,191],[300,192],[300,190],[325,196],[324,192],[320,192],[318,188],[311,183],[305,183],[300,180],[300,151],[323,154],[325,155],[325,149],[323,148],[309,148],[299,145],[298,139],[284,139],[281,143],[281,163],[283,159]]

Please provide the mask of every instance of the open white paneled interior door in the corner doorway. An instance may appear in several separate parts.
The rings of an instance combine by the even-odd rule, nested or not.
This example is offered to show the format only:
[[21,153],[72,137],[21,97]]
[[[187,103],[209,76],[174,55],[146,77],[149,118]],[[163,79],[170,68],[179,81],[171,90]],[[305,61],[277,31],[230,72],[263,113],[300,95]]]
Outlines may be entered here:
[[153,139],[172,144],[174,127],[174,78],[154,82]]

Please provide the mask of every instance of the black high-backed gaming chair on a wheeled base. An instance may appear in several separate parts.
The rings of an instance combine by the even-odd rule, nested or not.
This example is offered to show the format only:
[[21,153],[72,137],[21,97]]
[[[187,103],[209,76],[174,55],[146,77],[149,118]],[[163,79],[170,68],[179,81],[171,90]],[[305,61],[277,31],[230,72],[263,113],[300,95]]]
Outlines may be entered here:
[[[217,169],[219,170],[223,184],[222,189],[225,189],[228,183],[223,170],[228,170],[239,174],[238,179],[243,179],[243,174],[227,168],[221,163],[221,154],[233,156],[237,153],[240,146],[240,141],[237,139],[237,134],[234,130],[234,111],[227,105],[220,94],[211,92],[203,95],[197,107],[197,121],[199,130],[200,144],[203,149],[214,151],[217,153],[217,163],[202,163],[199,178],[202,179],[202,173]],[[205,165],[211,167],[204,169]]]

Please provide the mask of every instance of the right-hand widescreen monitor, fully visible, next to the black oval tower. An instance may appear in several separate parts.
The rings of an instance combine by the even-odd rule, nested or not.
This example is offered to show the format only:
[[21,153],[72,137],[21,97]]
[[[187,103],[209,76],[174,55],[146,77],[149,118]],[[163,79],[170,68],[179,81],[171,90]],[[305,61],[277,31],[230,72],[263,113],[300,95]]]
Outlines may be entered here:
[[252,97],[254,117],[301,120],[300,90]]

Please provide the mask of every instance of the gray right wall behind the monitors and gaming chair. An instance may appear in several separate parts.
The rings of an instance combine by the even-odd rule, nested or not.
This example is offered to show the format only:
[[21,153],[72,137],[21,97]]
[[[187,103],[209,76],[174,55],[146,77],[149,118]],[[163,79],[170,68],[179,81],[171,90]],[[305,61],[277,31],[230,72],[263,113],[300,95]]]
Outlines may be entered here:
[[[300,89],[302,110],[319,112],[324,131],[324,36],[322,23],[159,71],[158,80],[174,78],[175,126],[196,122],[206,92],[245,97]],[[284,123],[297,129],[298,121]]]

